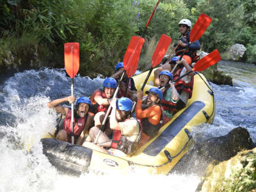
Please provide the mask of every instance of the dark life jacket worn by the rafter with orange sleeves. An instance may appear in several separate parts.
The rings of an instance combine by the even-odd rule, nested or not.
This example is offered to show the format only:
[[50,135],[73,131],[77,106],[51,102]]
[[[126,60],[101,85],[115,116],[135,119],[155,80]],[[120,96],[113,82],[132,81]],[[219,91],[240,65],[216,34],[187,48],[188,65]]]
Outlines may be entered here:
[[[157,104],[161,108],[161,104]],[[156,136],[157,132],[159,129],[162,127],[164,122],[164,111],[161,108],[161,120],[159,121],[159,124],[153,125],[148,121],[148,118],[143,118],[141,119],[141,124],[142,124],[142,131],[143,133],[147,134],[151,138]]]

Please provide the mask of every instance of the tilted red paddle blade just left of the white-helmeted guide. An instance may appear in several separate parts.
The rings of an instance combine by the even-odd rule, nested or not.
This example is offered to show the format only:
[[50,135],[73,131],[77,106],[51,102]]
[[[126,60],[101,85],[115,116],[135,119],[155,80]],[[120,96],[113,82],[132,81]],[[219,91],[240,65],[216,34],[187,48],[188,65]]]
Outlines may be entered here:
[[171,42],[172,38],[170,38],[170,36],[164,34],[161,36],[152,56],[152,68],[156,67],[163,60],[164,54]]

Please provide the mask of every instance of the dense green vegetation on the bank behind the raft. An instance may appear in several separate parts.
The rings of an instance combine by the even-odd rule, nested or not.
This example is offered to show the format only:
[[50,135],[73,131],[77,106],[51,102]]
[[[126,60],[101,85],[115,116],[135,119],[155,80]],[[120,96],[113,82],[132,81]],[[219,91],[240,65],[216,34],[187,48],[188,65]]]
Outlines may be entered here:
[[[98,73],[109,76],[113,66],[122,61],[131,36],[142,34],[156,2],[0,0],[1,70],[12,65],[3,62],[12,54],[20,56],[20,51],[35,49],[42,61],[37,67],[62,68],[63,44],[79,42],[79,73],[91,77]],[[143,70],[151,56],[147,53],[148,47],[152,47],[151,40],[156,44],[164,33],[175,42],[179,38],[179,20],[188,18],[195,24],[200,13],[212,18],[200,39],[204,51],[225,52],[232,44],[239,43],[247,49],[242,60],[256,63],[255,7],[255,0],[162,0],[145,34],[139,68]],[[31,47],[33,49],[29,49]]]

